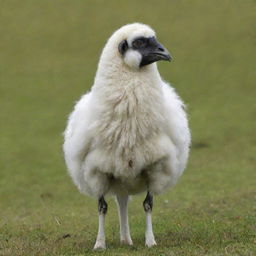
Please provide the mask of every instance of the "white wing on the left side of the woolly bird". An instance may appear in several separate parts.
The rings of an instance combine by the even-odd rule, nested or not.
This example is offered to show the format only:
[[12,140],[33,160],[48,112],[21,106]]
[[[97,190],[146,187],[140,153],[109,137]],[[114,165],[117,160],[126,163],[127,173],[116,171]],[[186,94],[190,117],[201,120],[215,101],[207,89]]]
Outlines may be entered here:
[[77,184],[81,173],[81,165],[88,154],[92,135],[91,123],[91,92],[85,94],[76,104],[68,119],[64,132],[63,150],[66,164],[71,177]]

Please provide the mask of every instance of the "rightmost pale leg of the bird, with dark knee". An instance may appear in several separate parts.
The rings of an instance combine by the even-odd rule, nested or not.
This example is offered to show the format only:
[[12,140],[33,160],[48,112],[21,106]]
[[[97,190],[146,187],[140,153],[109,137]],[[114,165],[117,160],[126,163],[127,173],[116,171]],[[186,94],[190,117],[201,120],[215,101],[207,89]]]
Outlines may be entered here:
[[146,232],[145,244],[147,247],[152,247],[156,245],[153,228],[152,228],[152,220],[151,220],[151,212],[153,209],[153,195],[148,191],[147,196],[143,202],[143,207],[146,213]]

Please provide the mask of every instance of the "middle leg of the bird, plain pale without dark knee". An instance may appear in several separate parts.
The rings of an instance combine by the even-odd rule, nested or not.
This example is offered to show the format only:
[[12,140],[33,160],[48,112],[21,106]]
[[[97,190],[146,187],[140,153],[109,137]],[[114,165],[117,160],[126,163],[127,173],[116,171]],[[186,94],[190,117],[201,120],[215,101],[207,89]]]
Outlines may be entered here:
[[128,222],[128,195],[117,195],[118,213],[120,222],[120,240],[122,244],[132,245],[132,239],[130,235],[130,228]]

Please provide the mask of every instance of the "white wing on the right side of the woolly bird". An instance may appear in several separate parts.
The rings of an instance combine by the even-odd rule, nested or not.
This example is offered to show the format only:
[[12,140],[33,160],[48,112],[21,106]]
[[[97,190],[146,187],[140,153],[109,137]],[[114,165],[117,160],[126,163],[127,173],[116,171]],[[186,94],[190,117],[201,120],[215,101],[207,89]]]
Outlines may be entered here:
[[166,110],[166,133],[176,147],[181,164],[185,165],[190,145],[190,131],[185,105],[170,85],[163,82],[162,89]]

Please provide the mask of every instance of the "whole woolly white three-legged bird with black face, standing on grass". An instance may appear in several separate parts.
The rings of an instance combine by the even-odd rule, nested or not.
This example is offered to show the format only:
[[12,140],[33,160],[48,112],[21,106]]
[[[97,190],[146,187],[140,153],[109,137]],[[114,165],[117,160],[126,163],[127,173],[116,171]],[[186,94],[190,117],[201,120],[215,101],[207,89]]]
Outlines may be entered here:
[[106,249],[106,196],[116,198],[121,244],[132,245],[128,202],[145,193],[145,246],[156,245],[153,197],[172,187],[189,156],[186,107],[157,62],[172,56],[143,23],[116,30],[101,53],[94,83],[75,104],[64,132],[64,158],[78,190],[98,200],[94,249]]

